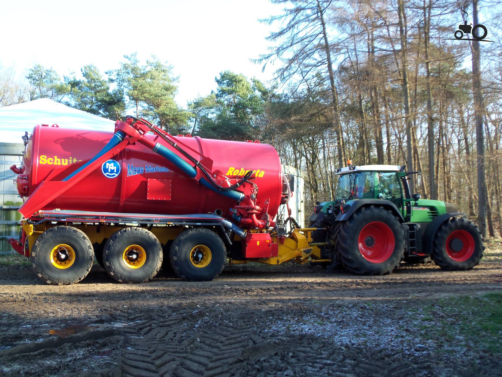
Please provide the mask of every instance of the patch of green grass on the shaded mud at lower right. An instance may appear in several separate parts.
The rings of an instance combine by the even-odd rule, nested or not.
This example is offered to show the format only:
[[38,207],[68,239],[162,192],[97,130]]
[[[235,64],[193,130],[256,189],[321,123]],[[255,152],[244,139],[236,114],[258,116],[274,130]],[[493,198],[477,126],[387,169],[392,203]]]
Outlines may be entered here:
[[489,353],[502,350],[502,292],[438,300],[423,306],[422,314],[419,329],[442,351],[456,346]]

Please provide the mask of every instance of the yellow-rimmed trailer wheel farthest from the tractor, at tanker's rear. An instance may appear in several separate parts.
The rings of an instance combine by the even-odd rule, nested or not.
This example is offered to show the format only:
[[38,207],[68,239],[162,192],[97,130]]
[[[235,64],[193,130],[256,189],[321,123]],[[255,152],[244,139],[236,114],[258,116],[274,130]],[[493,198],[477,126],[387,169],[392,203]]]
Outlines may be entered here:
[[[53,255],[57,253],[55,248],[58,245],[68,245],[73,249],[68,254],[69,259],[62,260],[61,264],[53,262]],[[87,276],[94,260],[94,251],[89,237],[84,232],[61,225],[47,229],[37,238],[30,259],[33,270],[42,281],[52,286],[64,286],[76,283]],[[68,263],[68,266],[65,263]]]

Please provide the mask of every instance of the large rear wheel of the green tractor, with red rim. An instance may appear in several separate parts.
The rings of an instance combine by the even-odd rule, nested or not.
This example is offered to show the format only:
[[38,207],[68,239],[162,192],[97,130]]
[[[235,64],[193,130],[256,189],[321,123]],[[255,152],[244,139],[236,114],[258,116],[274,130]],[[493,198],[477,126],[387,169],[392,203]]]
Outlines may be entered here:
[[[336,251],[340,261],[351,272],[384,275],[394,271],[404,258],[403,227],[399,219],[383,207],[362,207],[350,219],[340,223],[337,231]],[[361,250],[359,238],[365,235],[367,237],[363,240],[365,243]],[[394,237],[394,242],[391,237]],[[380,245],[382,248],[373,249]],[[375,254],[373,256],[370,253]]]

